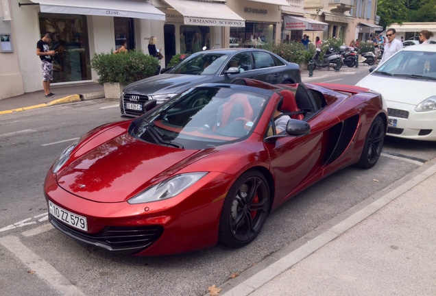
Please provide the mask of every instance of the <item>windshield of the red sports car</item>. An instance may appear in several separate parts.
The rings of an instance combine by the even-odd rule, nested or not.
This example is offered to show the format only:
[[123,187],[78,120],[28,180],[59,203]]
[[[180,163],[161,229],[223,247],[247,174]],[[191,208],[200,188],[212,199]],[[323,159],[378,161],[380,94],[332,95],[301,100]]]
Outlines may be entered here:
[[228,87],[197,87],[136,119],[130,134],[149,143],[205,149],[254,130],[269,97]]

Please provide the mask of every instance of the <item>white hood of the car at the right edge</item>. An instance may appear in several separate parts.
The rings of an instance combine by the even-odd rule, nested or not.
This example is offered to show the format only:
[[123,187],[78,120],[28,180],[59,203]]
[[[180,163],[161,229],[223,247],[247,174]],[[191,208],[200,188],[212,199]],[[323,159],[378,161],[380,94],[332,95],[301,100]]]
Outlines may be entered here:
[[370,74],[361,79],[356,86],[370,88],[382,94],[383,99],[387,102],[387,107],[389,107],[389,101],[416,106],[418,103],[424,101],[424,99],[435,95],[436,82],[431,80]]

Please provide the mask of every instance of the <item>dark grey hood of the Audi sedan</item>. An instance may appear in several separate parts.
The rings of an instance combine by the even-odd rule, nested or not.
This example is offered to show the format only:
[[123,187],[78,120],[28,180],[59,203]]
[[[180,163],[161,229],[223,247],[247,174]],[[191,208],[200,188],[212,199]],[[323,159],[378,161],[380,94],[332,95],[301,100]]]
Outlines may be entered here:
[[213,75],[160,74],[129,84],[123,91],[143,95],[179,93],[183,88],[209,82],[213,77]]

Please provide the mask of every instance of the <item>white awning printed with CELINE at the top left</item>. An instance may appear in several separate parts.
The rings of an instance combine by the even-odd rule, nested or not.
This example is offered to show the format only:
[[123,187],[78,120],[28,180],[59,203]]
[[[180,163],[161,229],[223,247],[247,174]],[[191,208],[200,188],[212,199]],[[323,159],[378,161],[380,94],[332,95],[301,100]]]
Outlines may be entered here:
[[128,0],[31,0],[39,3],[41,12],[120,16],[165,21],[165,14],[144,1]]

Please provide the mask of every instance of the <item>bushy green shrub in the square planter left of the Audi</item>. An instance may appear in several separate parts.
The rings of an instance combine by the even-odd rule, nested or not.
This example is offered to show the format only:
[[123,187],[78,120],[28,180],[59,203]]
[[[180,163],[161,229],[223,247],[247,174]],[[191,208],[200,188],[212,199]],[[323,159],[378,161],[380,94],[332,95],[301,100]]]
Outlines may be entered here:
[[90,61],[90,66],[99,75],[99,84],[119,82],[128,85],[153,76],[159,62],[156,58],[135,49],[117,54],[96,53]]

